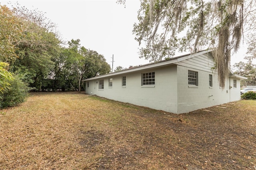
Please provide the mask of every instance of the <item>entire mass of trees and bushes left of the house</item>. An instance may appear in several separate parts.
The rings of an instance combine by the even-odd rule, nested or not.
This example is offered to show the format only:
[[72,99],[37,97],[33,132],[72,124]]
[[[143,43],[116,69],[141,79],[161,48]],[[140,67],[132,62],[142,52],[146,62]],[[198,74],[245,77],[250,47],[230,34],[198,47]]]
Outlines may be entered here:
[[82,79],[109,72],[104,56],[79,39],[65,45],[42,12],[0,4],[0,108],[23,102],[28,91],[80,91]]

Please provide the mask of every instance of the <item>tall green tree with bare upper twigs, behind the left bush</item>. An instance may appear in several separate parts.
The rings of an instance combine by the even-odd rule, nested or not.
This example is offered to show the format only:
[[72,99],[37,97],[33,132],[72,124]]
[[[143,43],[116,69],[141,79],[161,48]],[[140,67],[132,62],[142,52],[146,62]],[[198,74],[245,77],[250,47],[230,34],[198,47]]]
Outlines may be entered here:
[[13,11],[22,23],[22,36],[16,44],[19,57],[11,64],[12,71],[26,71],[30,86],[39,90],[42,79],[48,76],[54,58],[60,53],[60,40],[52,32],[55,24],[48,22],[44,14],[36,10],[17,7]]

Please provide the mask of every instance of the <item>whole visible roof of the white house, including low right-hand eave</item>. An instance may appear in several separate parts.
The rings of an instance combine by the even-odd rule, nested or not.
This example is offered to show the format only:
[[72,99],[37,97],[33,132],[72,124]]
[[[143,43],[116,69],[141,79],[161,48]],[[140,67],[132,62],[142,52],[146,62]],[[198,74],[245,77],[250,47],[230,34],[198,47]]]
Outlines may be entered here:
[[[178,57],[173,57],[170,59],[165,59],[162,61],[156,61],[154,63],[149,63],[149,64],[145,64],[145,65],[138,65],[138,66],[134,66],[128,69],[124,69],[118,72],[113,72],[113,73],[108,73],[105,75],[100,75],[100,76],[96,76],[96,77],[92,77],[89,79],[84,79],[82,81],[88,81],[88,80],[94,80],[94,79],[99,79],[99,78],[104,78],[104,77],[109,77],[109,76],[114,76],[114,75],[121,75],[121,74],[125,74],[125,73],[130,73],[130,72],[135,72],[135,71],[140,71],[140,70],[144,70],[144,69],[151,69],[151,68],[155,68],[155,67],[163,67],[166,65],[172,65],[175,64],[176,62],[180,62],[186,59],[190,59],[192,57],[195,57],[197,55],[202,55],[204,53],[208,53],[213,51],[214,49],[206,49],[203,51],[198,51],[196,53],[190,53],[190,54],[186,54],[186,55],[181,55]],[[231,76],[232,77],[236,77],[237,79],[247,79],[246,77],[243,76],[239,76],[239,75],[235,75],[231,70],[230,70]]]

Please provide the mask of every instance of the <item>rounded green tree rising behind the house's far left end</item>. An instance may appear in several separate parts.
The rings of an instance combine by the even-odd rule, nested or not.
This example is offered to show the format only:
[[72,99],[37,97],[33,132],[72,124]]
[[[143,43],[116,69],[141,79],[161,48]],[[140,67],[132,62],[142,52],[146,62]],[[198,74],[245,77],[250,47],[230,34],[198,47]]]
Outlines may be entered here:
[[60,84],[68,83],[71,88],[80,91],[82,79],[110,72],[110,65],[104,56],[81,46],[79,39],[70,40],[68,45],[68,48],[62,48],[60,55],[54,59],[51,79],[58,80]]

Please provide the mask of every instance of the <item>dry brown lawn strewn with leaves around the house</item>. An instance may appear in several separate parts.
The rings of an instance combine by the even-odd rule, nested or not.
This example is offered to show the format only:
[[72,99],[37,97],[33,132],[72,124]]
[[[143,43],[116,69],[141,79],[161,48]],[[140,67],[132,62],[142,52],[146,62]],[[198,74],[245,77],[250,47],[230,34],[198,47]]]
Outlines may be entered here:
[[0,115],[0,169],[256,169],[256,101],[175,115],[31,93]]

